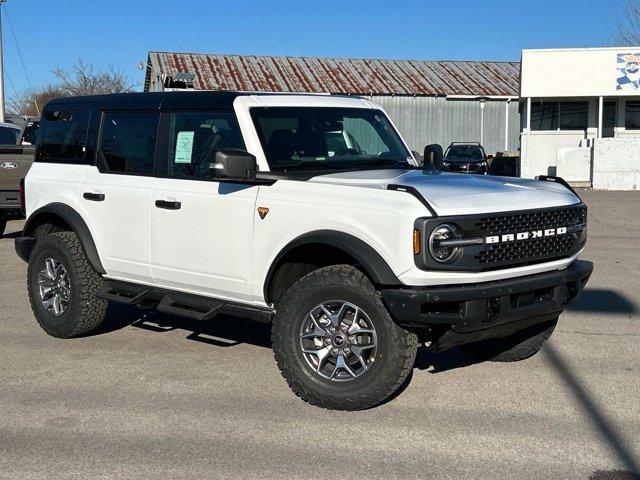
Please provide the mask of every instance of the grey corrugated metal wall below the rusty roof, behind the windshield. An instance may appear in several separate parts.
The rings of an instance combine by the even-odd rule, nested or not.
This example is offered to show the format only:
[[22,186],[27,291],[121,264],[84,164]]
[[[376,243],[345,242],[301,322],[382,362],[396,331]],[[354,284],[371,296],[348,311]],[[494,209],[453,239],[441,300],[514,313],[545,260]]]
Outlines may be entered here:
[[[480,102],[444,97],[373,96],[387,111],[409,146],[422,153],[424,146],[480,141]],[[484,108],[484,148],[488,154],[504,151],[505,100],[487,100]],[[509,104],[508,150],[520,145],[518,102]]]

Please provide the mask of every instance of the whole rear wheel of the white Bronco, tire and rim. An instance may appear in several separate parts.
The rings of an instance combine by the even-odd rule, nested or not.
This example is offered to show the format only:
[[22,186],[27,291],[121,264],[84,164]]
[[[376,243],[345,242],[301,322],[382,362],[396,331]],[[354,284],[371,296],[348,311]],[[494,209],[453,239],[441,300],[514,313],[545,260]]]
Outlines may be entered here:
[[31,308],[42,329],[53,337],[87,335],[102,324],[107,302],[96,296],[102,282],[73,232],[41,238],[29,258]]

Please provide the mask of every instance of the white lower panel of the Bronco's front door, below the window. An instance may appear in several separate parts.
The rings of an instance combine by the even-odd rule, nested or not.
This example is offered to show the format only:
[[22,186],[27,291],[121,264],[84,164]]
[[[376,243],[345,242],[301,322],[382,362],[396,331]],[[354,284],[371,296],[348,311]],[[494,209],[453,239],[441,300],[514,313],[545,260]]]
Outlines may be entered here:
[[[158,178],[151,198],[151,270],[164,288],[252,302],[257,185]],[[179,201],[164,210],[156,200]]]

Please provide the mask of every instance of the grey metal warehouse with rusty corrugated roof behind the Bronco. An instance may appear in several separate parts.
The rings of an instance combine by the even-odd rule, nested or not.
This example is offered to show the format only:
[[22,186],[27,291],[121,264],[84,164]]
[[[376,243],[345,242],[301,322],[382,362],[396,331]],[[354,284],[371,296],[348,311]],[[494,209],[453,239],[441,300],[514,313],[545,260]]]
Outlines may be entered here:
[[174,88],[361,95],[388,112],[413,150],[481,142],[519,147],[520,64],[150,52],[145,91]]

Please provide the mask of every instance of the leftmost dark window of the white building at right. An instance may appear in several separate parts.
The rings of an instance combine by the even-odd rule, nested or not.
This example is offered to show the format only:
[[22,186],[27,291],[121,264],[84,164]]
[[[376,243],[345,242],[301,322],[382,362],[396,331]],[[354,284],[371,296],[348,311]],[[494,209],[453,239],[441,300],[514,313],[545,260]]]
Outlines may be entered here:
[[586,130],[588,102],[540,102],[531,105],[531,130]]

